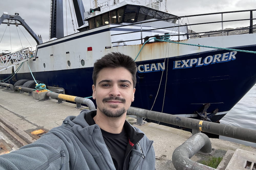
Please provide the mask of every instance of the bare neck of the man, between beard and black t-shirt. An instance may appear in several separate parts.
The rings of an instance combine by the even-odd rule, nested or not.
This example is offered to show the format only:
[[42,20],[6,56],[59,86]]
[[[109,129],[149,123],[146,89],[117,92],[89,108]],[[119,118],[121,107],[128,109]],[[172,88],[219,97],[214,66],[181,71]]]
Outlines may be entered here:
[[122,132],[125,117],[126,113],[121,117],[107,117],[105,114],[97,110],[97,114],[93,117],[93,120],[106,132],[119,134]]

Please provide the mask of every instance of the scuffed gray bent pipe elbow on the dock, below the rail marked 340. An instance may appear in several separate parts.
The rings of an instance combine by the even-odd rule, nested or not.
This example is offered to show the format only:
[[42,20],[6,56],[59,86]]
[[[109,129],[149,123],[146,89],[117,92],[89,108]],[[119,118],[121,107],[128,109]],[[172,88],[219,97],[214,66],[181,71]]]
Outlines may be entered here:
[[211,141],[206,134],[197,133],[173,151],[172,161],[177,170],[214,170],[215,168],[192,161],[190,158],[198,151],[212,152]]

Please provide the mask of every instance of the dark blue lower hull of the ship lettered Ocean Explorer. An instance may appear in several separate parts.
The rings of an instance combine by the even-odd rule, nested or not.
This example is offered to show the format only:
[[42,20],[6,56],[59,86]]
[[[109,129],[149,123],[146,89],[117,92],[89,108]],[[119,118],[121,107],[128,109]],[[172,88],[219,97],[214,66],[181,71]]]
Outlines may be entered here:
[[[254,50],[255,45],[233,48]],[[217,56],[219,59],[213,61],[216,54],[226,53],[229,53],[226,60],[220,61],[225,56]],[[251,53],[212,50],[136,63],[137,84],[132,106],[169,114],[200,119],[196,111],[200,112],[207,103],[210,103],[207,113],[216,109],[219,113],[227,112],[256,83],[256,58]],[[152,63],[162,63],[165,68]],[[33,75],[48,86],[63,87],[66,94],[88,97],[92,95],[92,71],[93,68],[81,68],[33,72]],[[8,76],[1,74],[0,78]],[[30,73],[15,76],[16,80],[31,80]],[[216,114],[210,119],[218,122],[224,115]]]

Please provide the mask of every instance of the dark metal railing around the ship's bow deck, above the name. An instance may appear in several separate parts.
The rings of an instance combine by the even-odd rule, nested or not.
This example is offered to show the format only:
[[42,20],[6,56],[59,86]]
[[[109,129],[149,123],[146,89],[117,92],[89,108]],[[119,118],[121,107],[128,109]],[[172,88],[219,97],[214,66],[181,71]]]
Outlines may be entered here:
[[[139,23],[136,22],[132,24],[123,23],[123,25],[119,25],[111,28],[118,28],[118,27],[124,28],[127,26],[140,25],[141,29],[138,31],[131,31],[131,32],[129,31],[116,32],[114,34],[111,34],[111,36],[134,34],[134,33],[140,33],[141,36],[140,37],[136,36],[137,37],[136,39],[127,39],[122,41],[115,41],[116,39],[113,38],[112,43],[131,42],[131,41],[140,41],[141,43],[144,43],[145,42],[144,40],[145,36],[143,36],[144,32],[149,32],[149,31],[156,32],[160,30],[162,32],[166,31],[165,33],[170,33],[168,31],[172,30],[174,33],[170,33],[169,36],[171,37],[170,40],[173,40],[173,41],[175,41],[176,39],[182,40],[182,38],[180,38],[181,36],[185,36],[186,39],[189,39],[189,38],[201,38],[201,37],[210,37],[210,36],[228,36],[228,35],[254,33],[256,31],[256,27],[255,27],[255,24],[253,23],[255,23],[256,18],[253,18],[253,14],[254,16],[256,16],[256,9],[179,16],[179,17],[172,17],[172,18],[165,18],[165,19],[158,19],[158,20],[143,21]],[[167,25],[164,25],[164,26],[161,25],[162,27],[152,26],[150,29],[143,29],[143,25],[145,25],[146,23],[165,21],[168,19],[177,19],[178,23],[172,24],[172,25],[170,24],[169,26]],[[184,23],[185,19],[187,20],[188,23]],[[198,21],[201,21],[201,22],[198,22]],[[242,25],[244,25],[244,27],[241,27]],[[185,32],[184,32],[184,28],[186,28]],[[160,35],[164,35],[164,33]],[[178,38],[172,38],[174,36]],[[129,37],[134,37],[134,36],[129,36]]]

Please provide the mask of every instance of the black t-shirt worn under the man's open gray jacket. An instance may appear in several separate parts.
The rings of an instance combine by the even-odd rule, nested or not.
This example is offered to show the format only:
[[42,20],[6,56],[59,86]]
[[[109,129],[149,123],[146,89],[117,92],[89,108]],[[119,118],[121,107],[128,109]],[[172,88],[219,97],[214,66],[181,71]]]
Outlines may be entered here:
[[[93,117],[96,115],[95,112],[90,112],[86,115],[85,119],[89,125],[94,125],[95,122],[93,120]],[[125,153],[126,153],[126,148],[128,144],[128,134],[123,128],[122,132],[120,134],[112,134],[109,132],[106,132],[105,130],[101,129],[101,133],[103,136],[103,139],[106,143],[106,146],[109,149],[110,155],[112,157],[113,163],[115,165],[115,168],[118,169],[123,169],[124,165],[124,159],[125,159]],[[126,160],[126,162],[130,161],[129,158]],[[127,166],[127,169],[129,168],[129,164]]]

